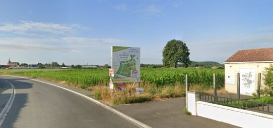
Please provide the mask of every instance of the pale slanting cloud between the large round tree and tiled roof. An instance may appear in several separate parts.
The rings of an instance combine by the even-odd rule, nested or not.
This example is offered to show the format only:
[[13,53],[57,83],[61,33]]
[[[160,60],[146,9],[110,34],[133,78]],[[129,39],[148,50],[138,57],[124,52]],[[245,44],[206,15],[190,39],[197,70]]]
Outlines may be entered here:
[[273,33],[185,43],[192,60],[223,63],[238,50],[273,47]]

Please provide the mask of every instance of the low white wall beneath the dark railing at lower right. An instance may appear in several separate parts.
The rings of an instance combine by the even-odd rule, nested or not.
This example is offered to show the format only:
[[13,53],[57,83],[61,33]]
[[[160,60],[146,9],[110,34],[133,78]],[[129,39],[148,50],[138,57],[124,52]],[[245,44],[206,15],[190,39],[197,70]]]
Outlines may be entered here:
[[[190,102],[190,100],[188,101]],[[189,106],[190,107],[190,106]],[[190,108],[189,108],[190,109]],[[203,101],[196,102],[196,114],[201,117],[243,128],[272,128],[273,115],[247,111]]]

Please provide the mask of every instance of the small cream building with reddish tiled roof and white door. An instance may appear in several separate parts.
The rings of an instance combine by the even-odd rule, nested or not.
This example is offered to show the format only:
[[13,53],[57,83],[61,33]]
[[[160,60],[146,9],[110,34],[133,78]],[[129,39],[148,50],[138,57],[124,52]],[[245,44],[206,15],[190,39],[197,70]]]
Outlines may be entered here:
[[228,92],[237,91],[237,73],[240,73],[241,94],[251,95],[258,87],[258,74],[273,64],[273,47],[261,49],[239,50],[225,62],[225,89]]

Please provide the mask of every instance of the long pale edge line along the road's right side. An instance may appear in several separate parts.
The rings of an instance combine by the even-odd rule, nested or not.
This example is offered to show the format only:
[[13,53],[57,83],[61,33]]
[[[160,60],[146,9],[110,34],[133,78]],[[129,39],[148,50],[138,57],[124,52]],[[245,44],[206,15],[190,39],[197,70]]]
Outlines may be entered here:
[[116,115],[122,117],[123,119],[126,119],[127,121],[133,123],[134,125],[136,125],[136,126],[138,126],[138,127],[142,127],[142,128],[151,128],[150,126],[148,126],[148,125],[146,125],[146,124],[144,124],[144,123],[142,123],[142,122],[139,122],[139,121],[137,121],[136,119],[134,119],[134,118],[132,118],[132,117],[130,117],[130,116],[128,116],[128,115],[126,115],[126,114],[124,114],[124,113],[122,113],[122,112],[120,112],[120,111],[118,111],[118,110],[116,110],[116,109],[114,109],[114,108],[112,108],[112,107],[110,107],[110,106],[107,106],[107,105],[101,103],[101,102],[98,101],[98,100],[95,100],[95,99],[93,99],[93,98],[91,98],[91,97],[88,97],[88,96],[83,95],[83,94],[81,94],[81,93],[78,93],[78,92],[76,92],[76,91],[70,90],[70,89],[68,89],[68,88],[65,88],[65,87],[62,87],[62,86],[59,86],[59,85],[54,85],[54,84],[47,83],[47,82],[43,82],[43,81],[39,81],[39,80],[35,80],[35,79],[25,78],[25,77],[10,76],[10,75],[0,75],[0,76],[8,76],[8,77],[23,78],[23,79],[28,79],[28,80],[32,80],[32,81],[36,81],[36,82],[40,82],[40,83],[44,83],[44,84],[48,84],[48,85],[52,85],[52,86],[56,86],[56,87],[65,89],[65,90],[70,91],[70,92],[72,92],[72,93],[74,93],[74,94],[77,94],[77,95],[79,95],[79,96],[81,96],[81,97],[83,97],[83,98],[85,98],[85,99],[88,99],[89,101],[94,102],[94,103],[96,103],[97,105],[100,105],[100,106],[104,107],[105,109],[107,109],[107,110],[109,110],[109,111],[115,113]]

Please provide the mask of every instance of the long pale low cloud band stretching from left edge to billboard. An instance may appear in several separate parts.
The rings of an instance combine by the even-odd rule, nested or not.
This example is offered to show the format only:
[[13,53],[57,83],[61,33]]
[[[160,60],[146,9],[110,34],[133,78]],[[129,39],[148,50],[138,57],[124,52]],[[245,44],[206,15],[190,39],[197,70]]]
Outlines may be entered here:
[[83,52],[92,48],[103,49],[119,43],[125,43],[125,41],[113,38],[96,39],[79,37],[1,38],[0,50]]

